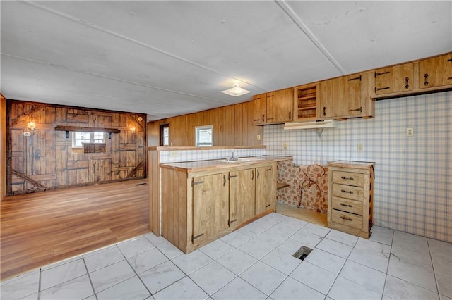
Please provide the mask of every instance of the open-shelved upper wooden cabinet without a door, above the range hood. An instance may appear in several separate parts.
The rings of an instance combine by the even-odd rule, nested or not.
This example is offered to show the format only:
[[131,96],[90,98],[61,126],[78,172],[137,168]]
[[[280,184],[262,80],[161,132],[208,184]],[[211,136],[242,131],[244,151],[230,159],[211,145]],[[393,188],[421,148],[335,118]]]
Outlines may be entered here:
[[294,121],[316,120],[319,85],[294,87]]

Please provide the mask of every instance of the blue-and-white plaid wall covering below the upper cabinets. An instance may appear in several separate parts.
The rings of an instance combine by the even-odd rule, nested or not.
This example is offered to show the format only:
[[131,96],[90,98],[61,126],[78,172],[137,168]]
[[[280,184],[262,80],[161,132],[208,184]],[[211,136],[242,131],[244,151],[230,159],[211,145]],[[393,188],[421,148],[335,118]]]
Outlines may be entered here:
[[293,156],[296,165],[374,161],[374,224],[452,242],[452,92],[376,101],[375,108],[376,118],[338,122],[321,137],[265,126],[266,154]]

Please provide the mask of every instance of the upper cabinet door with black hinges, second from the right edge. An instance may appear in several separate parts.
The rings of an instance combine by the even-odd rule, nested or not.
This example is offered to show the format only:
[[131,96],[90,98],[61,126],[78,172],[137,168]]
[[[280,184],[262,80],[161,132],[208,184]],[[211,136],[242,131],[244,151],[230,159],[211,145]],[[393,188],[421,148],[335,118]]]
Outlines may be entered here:
[[412,91],[413,63],[375,70],[375,94]]

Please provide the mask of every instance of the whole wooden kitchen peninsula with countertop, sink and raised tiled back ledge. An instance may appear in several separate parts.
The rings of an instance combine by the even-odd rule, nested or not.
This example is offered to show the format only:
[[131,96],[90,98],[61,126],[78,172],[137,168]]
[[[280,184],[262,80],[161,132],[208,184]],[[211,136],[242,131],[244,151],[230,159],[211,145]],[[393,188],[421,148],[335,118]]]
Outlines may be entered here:
[[266,156],[263,146],[148,151],[150,228],[185,253],[275,211],[276,164],[292,159]]

